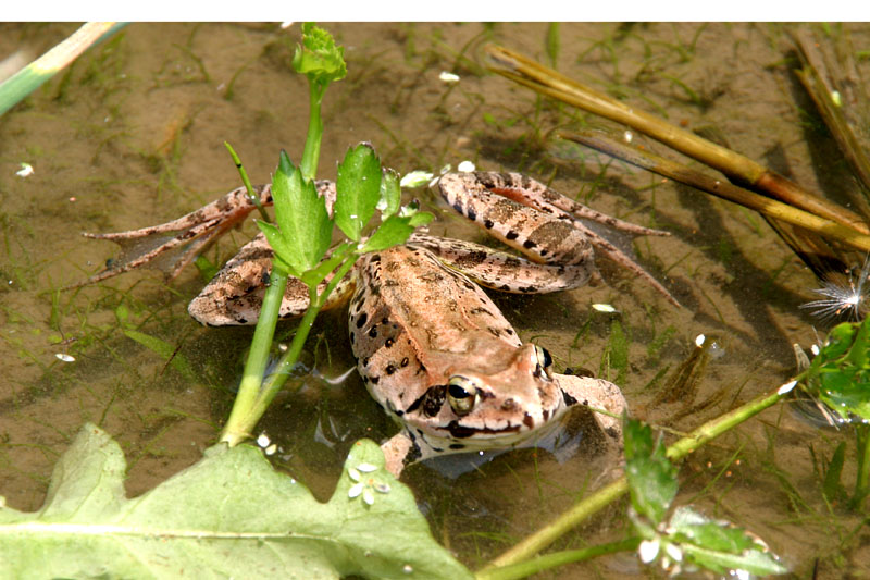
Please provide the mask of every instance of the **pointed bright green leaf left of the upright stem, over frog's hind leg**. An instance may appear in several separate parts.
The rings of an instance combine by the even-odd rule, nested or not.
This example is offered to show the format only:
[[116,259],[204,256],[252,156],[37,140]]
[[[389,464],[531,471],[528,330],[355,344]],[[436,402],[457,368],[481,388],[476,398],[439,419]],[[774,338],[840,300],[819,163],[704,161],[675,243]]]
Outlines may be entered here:
[[281,152],[277,171],[272,177],[272,198],[279,232],[262,225],[260,229],[270,245],[277,244],[272,245],[272,249],[290,271],[301,274],[315,267],[330,248],[333,225],[326,203],[318,195],[314,182],[302,180],[301,172],[293,166],[285,151]]

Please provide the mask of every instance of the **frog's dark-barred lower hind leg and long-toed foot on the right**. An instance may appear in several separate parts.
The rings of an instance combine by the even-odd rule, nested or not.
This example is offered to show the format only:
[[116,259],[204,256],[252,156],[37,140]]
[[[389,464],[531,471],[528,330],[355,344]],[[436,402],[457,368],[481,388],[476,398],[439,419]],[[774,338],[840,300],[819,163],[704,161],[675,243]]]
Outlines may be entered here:
[[631,234],[669,235],[667,232],[610,218],[519,173],[448,173],[438,180],[438,189],[455,210],[535,262],[592,263],[592,247],[596,246],[679,306],[655,277],[582,220]]

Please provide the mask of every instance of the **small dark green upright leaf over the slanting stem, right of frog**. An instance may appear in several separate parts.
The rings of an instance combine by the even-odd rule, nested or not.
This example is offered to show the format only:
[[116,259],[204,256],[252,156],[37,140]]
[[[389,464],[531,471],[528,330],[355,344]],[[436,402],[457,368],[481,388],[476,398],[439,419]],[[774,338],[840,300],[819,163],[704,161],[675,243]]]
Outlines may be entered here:
[[625,421],[625,476],[635,511],[654,525],[664,519],[676,496],[676,467],[664,456],[661,441],[654,442],[648,424]]

